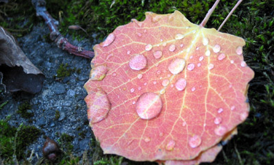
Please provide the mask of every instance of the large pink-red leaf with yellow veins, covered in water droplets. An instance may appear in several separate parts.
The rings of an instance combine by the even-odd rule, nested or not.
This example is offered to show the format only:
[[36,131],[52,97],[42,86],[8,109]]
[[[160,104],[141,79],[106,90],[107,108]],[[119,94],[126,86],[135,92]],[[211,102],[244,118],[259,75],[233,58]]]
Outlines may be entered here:
[[[145,21],[117,27],[95,45],[84,86],[104,153],[191,161],[214,149],[215,157],[219,142],[249,114],[254,73],[243,46],[242,38],[192,24],[178,11],[147,12]],[[100,112],[99,122],[92,119]]]

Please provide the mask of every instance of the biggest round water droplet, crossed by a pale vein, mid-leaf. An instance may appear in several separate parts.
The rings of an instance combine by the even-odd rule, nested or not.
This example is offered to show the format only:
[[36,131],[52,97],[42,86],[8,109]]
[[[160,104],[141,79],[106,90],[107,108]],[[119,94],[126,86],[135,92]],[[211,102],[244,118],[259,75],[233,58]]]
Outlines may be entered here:
[[143,93],[136,103],[136,112],[142,119],[155,118],[162,110],[162,100],[153,92]]

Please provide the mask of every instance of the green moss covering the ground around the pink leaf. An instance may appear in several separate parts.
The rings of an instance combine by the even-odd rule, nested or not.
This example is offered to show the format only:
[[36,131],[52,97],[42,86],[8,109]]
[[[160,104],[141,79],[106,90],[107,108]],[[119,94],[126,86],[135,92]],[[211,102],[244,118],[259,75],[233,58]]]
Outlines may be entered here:
[[[91,38],[83,31],[72,31],[69,25],[80,25],[88,34],[98,35],[103,39],[119,25],[129,23],[131,18],[142,21],[145,12],[159,14],[171,13],[174,10],[182,12],[192,23],[200,23],[206,16],[214,1],[47,1],[47,9],[52,16],[61,22],[60,31],[72,34],[77,38]],[[221,0],[212,14],[206,27],[218,28],[236,1]],[[32,29],[32,25],[40,23],[30,1],[10,1],[0,5],[0,25],[10,30],[16,36],[22,36]],[[272,164],[274,160],[274,1],[243,1],[232,14],[222,32],[234,34],[245,39],[245,61],[256,75],[249,86],[250,114],[247,121],[238,127],[238,136],[233,138],[218,155],[213,164]],[[25,19],[27,18],[27,19]],[[66,66],[62,66],[66,69]],[[58,72],[58,71],[57,71]],[[62,72],[61,72],[62,73]],[[62,77],[62,76],[61,76]],[[3,106],[1,101],[1,106]],[[3,121],[1,121],[3,122]],[[2,126],[1,126],[2,127]],[[4,130],[4,129],[3,129]],[[7,130],[7,129],[5,129]],[[12,131],[13,130],[13,131]],[[1,132],[3,137],[8,134]],[[14,141],[14,136],[8,139]],[[10,141],[9,141],[10,140]],[[1,141],[2,142],[2,141]],[[9,151],[12,153],[12,151]],[[92,143],[92,160],[95,164],[120,164],[123,157],[103,155],[95,142]],[[19,154],[19,153],[18,153]],[[71,155],[70,155],[71,154]],[[60,164],[77,164],[85,157],[67,155]],[[23,155],[17,155],[21,157]],[[26,155],[25,155],[26,156]],[[6,157],[8,159],[8,157]],[[129,161],[127,161],[129,162]],[[129,162],[129,164],[145,164]]]

